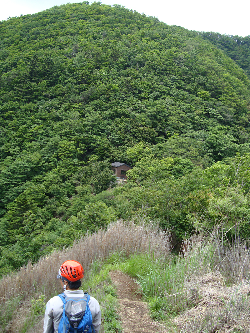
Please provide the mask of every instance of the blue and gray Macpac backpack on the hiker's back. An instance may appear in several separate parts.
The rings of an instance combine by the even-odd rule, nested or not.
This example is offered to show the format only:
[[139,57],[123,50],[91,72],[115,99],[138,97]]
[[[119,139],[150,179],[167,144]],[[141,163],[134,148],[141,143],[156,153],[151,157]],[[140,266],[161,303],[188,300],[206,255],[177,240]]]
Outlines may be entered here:
[[95,333],[92,314],[89,309],[88,293],[83,297],[68,297],[64,293],[57,295],[63,301],[63,315],[58,333]]

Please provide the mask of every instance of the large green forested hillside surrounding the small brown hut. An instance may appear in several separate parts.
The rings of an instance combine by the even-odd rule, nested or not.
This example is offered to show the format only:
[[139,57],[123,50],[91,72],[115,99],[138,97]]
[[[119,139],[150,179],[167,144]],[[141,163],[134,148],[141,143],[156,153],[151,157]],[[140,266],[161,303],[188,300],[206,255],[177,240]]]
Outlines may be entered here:
[[223,50],[86,1],[2,21],[0,44],[0,273],[117,218],[250,235],[250,81]]

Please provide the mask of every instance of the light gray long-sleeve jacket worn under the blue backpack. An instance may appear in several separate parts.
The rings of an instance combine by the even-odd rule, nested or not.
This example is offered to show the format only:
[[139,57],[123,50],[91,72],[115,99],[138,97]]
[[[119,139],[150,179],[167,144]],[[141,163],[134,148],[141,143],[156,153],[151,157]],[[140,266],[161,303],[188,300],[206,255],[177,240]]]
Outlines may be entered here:
[[[83,290],[65,290],[64,293],[66,296],[70,296],[70,298],[81,297],[81,295],[84,295]],[[101,326],[100,305],[97,300],[91,296],[88,304],[92,314],[93,326],[96,333],[99,333]],[[62,314],[63,301],[58,296],[52,297],[46,305],[43,333],[58,333],[58,326],[62,318]]]

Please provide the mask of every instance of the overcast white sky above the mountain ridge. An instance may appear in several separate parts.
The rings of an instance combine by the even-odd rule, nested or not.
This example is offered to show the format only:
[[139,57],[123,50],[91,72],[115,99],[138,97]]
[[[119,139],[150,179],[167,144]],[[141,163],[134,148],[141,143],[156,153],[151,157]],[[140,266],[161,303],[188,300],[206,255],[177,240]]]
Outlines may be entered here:
[[[56,5],[81,0],[2,0],[0,21],[20,14],[34,14]],[[92,0],[88,0],[92,3]],[[158,17],[169,25],[189,30],[213,31],[227,35],[250,35],[249,0],[103,0],[103,4],[120,4],[128,9]]]

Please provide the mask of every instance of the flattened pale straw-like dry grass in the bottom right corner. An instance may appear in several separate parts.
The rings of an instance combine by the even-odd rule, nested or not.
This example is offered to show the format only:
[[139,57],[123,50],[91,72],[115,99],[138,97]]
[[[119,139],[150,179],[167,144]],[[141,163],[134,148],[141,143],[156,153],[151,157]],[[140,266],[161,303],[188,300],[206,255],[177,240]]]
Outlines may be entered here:
[[186,288],[194,290],[194,286],[199,294],[196,305],[173,320],[178,332],[250,333],[250,285],[247,281],[226,287],[223,276],[216,271],[193,278]]

